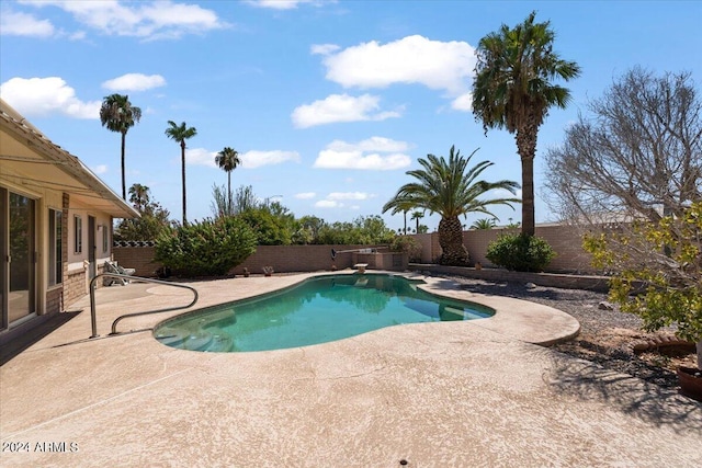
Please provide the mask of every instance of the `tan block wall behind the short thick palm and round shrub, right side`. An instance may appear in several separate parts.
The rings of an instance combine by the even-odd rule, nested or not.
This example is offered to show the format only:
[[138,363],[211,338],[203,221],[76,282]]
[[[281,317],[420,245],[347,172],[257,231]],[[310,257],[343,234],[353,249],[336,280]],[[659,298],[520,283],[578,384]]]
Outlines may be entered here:
[[[484,266],[494,266],[485,256],[488,244],[507,229],[476,229],[463,231],[463,244],[468,249],[472,262],[480,262]],[[519,232],[519,230],[517,231]],[[582,250],[581,232],[570,226],[536,226],[536,236],[544,238],[557,253],[547,267],[550,272],[592,273],[590,254]],[[439,235],[415,235],[422,244],[422,263],[435,263],[441,255]]]

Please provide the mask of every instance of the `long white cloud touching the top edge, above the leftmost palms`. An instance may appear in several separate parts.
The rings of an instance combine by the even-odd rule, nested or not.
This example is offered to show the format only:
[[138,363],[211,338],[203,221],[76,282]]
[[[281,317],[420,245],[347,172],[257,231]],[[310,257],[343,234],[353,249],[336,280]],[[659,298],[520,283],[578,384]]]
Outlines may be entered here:
[[114,0],[42,0],[23,3],[37,8],[60,8],[72,14],[79,23],[107,35],[161,39],[228,27],[213,10],[171,1],[121,3]]

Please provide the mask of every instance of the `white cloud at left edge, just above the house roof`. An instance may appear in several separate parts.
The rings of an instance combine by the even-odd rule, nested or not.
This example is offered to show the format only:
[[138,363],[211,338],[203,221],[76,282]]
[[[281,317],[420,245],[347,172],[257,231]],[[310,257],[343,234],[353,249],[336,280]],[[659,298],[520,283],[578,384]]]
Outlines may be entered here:
[[83,102],[58,77],[11,78],[0,84],[0,96],[25,117],[67,115],[73,118],[100,118],[101,101]]

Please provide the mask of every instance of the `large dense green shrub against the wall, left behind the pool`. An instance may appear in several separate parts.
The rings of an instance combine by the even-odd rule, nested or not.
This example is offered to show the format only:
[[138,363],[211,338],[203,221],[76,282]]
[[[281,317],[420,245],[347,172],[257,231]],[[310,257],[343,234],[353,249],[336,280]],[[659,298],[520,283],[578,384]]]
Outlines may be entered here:
[[225,275],[256,252],[256,232],[240,219],[205,219],[163,230],[155,259],[179,276]]

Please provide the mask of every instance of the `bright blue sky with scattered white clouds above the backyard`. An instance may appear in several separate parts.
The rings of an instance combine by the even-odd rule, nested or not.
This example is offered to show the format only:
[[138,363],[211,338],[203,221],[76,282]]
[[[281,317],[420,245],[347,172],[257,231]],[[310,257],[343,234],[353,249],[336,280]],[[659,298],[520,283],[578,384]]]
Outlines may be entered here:
[[[127,187],[149,186],[174,219],[180,148],[167,121],[197,129],[186,152],[190,220],[213,215],[213,184],[227,180],[214,158],[229,146],[242,160],[233,187],[251,185],[296,217],[351,221],[381,215],[418,158],[452,145],[495,163],[486,180],[521,182],[513,136],[485,136],[468,93],[480,37],[532,10],[552,22],[555,50],[582,68],[567,84],[570,106],[553,110],[539,135],[545,222],[554,217],[540,155],[587,115],[588,99],[637,65],[702,82],[702,2],[3,0],[0,95],[121,193],[120,135],[98,112],[105,95],[128,94],[144,114],[127,135]],[[501,224],[521,217],[519,206],[495,213]],[[401,215],[383,217],[403,226]],[[439,218],[422,224],[434,230]]]

